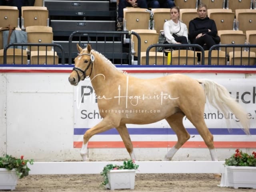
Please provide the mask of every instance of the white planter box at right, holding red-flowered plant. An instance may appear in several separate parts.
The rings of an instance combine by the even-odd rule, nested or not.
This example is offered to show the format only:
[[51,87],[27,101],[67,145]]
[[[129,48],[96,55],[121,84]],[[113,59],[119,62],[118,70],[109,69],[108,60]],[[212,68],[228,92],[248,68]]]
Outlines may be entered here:
[[256,167],[226,166],[230,187],[256,189]]

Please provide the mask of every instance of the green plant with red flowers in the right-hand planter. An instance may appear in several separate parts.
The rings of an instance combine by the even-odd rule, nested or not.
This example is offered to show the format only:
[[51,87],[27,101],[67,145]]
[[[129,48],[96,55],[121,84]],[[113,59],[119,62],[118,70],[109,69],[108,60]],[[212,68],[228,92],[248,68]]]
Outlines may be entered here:
[[255,167],[256,152],[252,152],[252,155],[248,155],[247,153],[243,153],[241,150],[236,149],[236,153],[225,160],[225,165]]

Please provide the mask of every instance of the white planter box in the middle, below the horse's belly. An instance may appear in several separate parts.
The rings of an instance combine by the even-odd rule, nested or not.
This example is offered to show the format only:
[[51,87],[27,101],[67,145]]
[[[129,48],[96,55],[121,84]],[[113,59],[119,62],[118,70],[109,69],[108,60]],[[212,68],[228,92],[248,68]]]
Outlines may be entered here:
[[134,169],[110,170],[106,188],[110,190],[134,189],[135,174],[136,171]]

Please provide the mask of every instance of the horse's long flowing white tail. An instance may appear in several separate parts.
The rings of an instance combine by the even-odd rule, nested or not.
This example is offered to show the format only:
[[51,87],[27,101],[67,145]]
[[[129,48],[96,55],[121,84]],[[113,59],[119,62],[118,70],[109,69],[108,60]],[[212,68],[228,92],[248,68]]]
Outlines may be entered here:
[[228,112],[232,112],[239,120],[246,134],[250,134],[250,122],[247,114],[238,102],[231,97],[228,90],[208,79],[198,79],[198,82],[204,86],[204,92],[210,104],[227,116]]

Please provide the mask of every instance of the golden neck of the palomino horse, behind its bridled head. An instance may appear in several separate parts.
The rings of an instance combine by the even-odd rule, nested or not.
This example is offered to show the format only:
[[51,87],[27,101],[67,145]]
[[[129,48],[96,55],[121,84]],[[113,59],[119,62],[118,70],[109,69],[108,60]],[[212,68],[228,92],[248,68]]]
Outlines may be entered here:
[[96,55],[92,75],[90,76],[92,86],[95,93],[98,95],[103,89],[109,89],[107,85],[112,85],[116,81],[116,78],[123,76],[115,66],[112,66],[110,61],[106,58]]

